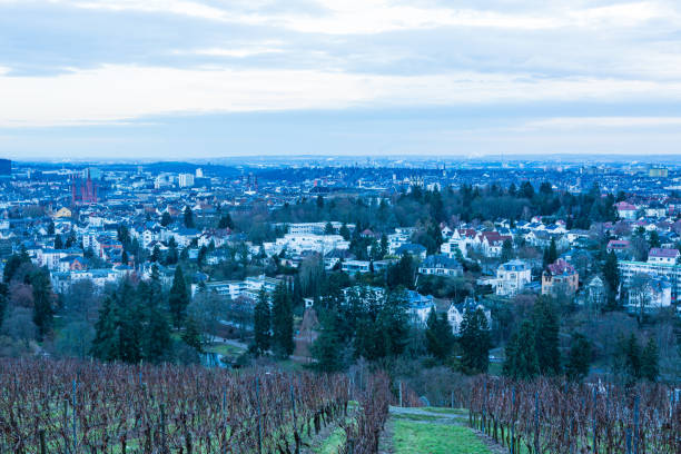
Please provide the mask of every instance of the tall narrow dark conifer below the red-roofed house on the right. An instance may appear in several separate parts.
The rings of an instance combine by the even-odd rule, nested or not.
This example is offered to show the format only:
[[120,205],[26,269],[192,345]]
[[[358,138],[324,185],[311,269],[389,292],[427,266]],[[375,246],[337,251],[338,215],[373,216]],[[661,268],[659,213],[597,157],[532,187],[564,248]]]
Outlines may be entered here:
[[542,375],[561,373],[561,353],[559,351],[560,324],[556,310],[546,298],[541,298],[534,306],[534,347]]

